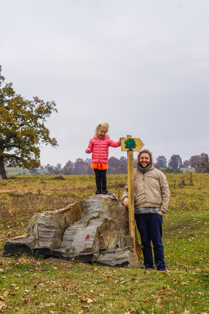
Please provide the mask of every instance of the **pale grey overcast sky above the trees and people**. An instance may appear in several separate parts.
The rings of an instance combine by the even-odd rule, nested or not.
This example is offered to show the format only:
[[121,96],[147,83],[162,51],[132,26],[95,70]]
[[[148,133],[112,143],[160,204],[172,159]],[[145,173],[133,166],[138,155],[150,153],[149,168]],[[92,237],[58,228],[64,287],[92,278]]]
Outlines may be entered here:
[[[209,153],[208,0],[0,0],[0,64],[27,99],[54,100],[58,148],[41,163],[85,154],[97,124],[167,159]],[[109,156],[126,156],[110,148]]]

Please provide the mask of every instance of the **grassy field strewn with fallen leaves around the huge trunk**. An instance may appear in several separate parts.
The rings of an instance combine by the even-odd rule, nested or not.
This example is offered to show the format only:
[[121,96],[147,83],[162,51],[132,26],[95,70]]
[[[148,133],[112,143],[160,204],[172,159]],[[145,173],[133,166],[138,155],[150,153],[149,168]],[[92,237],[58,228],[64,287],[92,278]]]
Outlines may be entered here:
[[[178,182],[189,184],[189,174],[166,175],[171,198],[163,216],[165,272],[4,258],[5,240],[24,234],[33,213],[94,195],[94,176],[63,177],[23,175],[0,182],[0,312],[209,313],[209,174],[194,174],[193,186],[182,187]],[[107,181],[121,198],[127,175],[108,175]]]

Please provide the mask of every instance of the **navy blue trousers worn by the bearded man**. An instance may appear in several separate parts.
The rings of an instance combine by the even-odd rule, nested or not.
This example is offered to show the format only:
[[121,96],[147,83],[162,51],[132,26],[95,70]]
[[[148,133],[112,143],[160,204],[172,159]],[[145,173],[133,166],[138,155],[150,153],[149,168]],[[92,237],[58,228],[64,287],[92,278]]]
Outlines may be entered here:
[[164,247],[162,244],[163,216],[159,214],[135,214],[136,225],[140,233],[141,244],[146,268],[155,268],[153,264],[152,247],[157,270],[166,270]]

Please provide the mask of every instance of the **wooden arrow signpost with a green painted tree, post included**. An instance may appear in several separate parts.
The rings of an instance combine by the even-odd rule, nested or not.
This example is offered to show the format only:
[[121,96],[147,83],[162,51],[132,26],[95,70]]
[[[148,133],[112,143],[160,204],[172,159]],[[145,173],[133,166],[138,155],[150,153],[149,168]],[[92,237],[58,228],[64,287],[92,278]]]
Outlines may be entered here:
[[[134,238],[135,251],[135,217],[134,217],[134,156],[133,151],[138,152],[144,146],[140,138],[121,138],[121,151],[127,151],[127,167],[128,167],[128,198],[129,198],[129,236]],[[136,251],[135,251],[136,252]]]

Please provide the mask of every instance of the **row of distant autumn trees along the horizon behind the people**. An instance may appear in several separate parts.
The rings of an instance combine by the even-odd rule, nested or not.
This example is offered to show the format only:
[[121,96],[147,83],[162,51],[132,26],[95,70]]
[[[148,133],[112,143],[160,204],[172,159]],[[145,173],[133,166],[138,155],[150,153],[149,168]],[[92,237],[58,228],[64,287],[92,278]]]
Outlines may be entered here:
[[[134,165],[136,163],[137,159],[134,160]],[[179,155],[172,155],[168,162],[165,156],[158,156],[154,166],[164,173],[181,173],[181,168],[188,167],[194,167],[197,173],[209,173],[208,154],[205,153],[191,156],[189,160],[184,160],[183,163]],[[68,160],[63,168],[61,164],[57,164],[55,167],[48,164],[43,168],[47,169],[48,173],[52,175],[94,174],[94,170],[91,168],[90,158],[86,158],[85,160],[78,158],[75,162]],[[123,156],[121,156],[120,159],[110,157],[108,159],[107,174],[127,174],[127,158]]]

